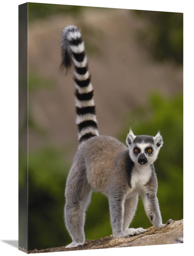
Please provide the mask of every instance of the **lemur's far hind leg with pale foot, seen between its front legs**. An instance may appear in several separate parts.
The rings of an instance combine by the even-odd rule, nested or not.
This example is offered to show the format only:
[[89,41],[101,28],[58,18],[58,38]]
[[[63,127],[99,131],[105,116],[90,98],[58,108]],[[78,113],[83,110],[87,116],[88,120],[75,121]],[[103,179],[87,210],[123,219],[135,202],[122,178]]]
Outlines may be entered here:
[[143,233],[147,230],[143,228],[128,228],[133,216],[135,215],[135,211],[138,203],[138,195],[135,195],[131,198],[127,198],[125,200],[125,212],[124,212],[124,220],[123,220],[123,234],[125,236],[133,236]]

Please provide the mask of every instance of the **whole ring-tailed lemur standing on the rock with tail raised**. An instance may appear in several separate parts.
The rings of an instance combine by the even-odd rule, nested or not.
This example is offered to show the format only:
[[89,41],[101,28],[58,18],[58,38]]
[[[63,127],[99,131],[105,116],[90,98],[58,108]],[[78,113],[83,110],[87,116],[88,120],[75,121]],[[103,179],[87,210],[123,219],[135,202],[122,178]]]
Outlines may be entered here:
[[102,192],[109,200],[114,237],[129,237],[146,231],[128,228],[139,194],[154,227],[166,226],[172,220],[162,223],[153,165],[163,145],[162,136],[159,132],[155,137],[135,136],[130,129],[126,147],[113,137],[99,135],[84,42],[80,30],[74,25],[66,26],[62,32],[61,55],[62,69],[68,71],[74,67],[76,124],[80,141],[66,182],[64,217],[73,240],[66,247],[85,242],[85,211],[92,189]]

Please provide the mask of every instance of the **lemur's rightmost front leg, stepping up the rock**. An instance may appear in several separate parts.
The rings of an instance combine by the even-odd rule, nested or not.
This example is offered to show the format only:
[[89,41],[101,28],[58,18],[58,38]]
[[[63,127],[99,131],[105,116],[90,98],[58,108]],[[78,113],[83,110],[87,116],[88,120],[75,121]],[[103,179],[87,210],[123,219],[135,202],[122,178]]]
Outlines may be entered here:
[[158,198],[156,196],[156,192],[147,192],[142,193],[142,201],[144,203],[145,212],[147,217],[152,222],[154,228],[164,227],[174,222],[173,220],[169,219],[166,224],[162,223],[162,217],[159,210],[159,203]]

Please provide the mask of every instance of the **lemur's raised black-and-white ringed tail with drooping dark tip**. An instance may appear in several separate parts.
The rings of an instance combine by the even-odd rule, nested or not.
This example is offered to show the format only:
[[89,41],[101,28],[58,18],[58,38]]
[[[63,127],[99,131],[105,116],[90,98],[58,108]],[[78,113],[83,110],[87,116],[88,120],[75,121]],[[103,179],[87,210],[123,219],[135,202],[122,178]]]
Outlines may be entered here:
[[93,99],[94,90],[88,71],[84,42],[80,30],[74,25],[66,26],[62,32],[61,56],[61,69],[66,69],[67,72],[72,66],[74,67],[78,139],[82,142],[99,136]]

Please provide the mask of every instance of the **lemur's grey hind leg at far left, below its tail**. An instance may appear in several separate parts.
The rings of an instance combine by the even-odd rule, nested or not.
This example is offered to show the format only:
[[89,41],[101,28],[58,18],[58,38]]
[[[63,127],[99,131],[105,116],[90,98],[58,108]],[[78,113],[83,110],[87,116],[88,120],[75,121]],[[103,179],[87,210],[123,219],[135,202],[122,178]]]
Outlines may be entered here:
[[77,247],[85,242],[85,211],[90,203],[92,190],[85,179],[85,172],[72,167],[66,184],[65,221],[73,242],[66,247]]

